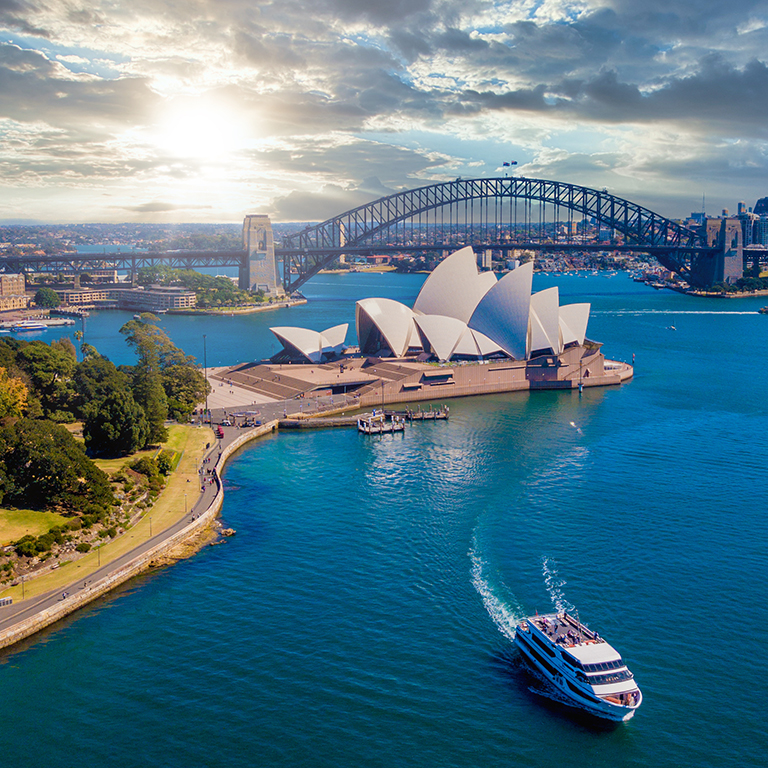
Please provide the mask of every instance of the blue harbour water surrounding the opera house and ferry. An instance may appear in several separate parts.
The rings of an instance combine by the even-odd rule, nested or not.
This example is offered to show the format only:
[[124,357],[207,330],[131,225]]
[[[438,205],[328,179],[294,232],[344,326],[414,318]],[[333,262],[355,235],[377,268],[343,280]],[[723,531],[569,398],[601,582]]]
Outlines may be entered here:
[[[163,324],[193,353],[205,329],[235,362],[270,353],[269,325],[352,322],[355,298],[410,301],[421,279],[322,276],[301,309]],[[589,335],[635,354],[632,382],[241,451],[235,538],[0,656],[3,764],[762,765],[761,302],[623,275],[550,284],[592,302]],[[120,362],[117,315],[87,334]],[[548,586],[630,664],[645,701],[629,723],[529,690],[509,638],[551,609]]]

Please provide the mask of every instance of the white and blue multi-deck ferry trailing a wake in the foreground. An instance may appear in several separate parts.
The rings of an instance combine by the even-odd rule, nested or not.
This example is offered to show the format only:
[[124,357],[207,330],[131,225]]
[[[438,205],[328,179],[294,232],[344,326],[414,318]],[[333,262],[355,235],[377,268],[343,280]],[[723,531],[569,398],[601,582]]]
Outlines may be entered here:
[[568,613],[529,616],[515,645],[570,706],[608,720],[629,720],[643,694],[619,652]]

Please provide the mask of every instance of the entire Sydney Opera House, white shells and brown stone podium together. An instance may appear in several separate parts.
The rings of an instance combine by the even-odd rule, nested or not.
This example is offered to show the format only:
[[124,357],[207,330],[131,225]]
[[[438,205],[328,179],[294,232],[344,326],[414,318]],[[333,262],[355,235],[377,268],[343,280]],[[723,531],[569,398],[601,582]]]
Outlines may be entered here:
[[280,352],[226,376],[275,399],[352,394],[361,406],[631,378],[631,366],[606,360],[586,338],[589,304],[561,306],[556,287],[532,293],[532,283],[532,263],[498,279],[463,248],[429,275],[413,307],[358,301],[356,346],[346,346],[346,323],[272,328]]

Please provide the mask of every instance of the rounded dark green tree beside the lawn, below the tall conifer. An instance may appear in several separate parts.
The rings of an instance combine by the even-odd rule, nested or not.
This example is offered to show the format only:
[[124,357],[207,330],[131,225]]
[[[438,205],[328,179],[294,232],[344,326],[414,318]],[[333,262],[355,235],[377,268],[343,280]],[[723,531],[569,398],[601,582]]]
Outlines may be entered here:
[[127,386],[108,392],[86,413],[83,437],[94,456],[127,456],[147,444],[147,418]]

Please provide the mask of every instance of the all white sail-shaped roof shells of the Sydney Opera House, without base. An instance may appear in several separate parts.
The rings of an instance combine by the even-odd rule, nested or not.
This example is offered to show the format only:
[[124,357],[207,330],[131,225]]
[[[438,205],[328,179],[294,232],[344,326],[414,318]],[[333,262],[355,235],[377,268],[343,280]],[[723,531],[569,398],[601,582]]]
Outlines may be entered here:
[[[357,302],[360,354],[440,362],[529,360],[583,344],[589,304],[561,307],[557,288],[531,295],[532,282],[532,263],[497,280],[493,272],[478,272],[474,252],[462,248],[427,278],[413,308],[392,299]],[[347,326],[271,330],[283,344],[283,357],[318,363],[338,357]]]

